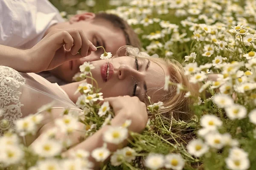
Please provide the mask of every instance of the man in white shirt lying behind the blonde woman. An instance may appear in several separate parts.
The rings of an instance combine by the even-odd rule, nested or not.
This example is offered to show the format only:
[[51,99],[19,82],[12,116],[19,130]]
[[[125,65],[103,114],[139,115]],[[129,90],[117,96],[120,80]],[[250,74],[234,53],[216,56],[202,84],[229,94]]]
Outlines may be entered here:
[[[104,46],[112,54],[116,54],[118,48],[124,45],[140,47],[140,40],[131,27],[113,14],[87,12],[76,14],[65,22],[48,0],[0,0],[0,11],[2,45],[31,48],[53,29],[75,28],[81,29],[93,45]],[[98,48],[87,57],[64,62],[63,65],[40,75],[60,85],[72,82],[81,64],[99,59],[102,53],[102,48]]]

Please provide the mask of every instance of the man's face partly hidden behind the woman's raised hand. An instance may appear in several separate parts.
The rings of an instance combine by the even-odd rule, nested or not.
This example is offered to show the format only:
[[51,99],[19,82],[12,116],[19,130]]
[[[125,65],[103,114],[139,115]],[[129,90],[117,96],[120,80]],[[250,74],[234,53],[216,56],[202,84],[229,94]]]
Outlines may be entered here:
[[[79,21],[72,23],[70,28],[79,28],[84,31],[85,36],[96,47],[103,46],[107,52],[111,52],[113,55],[116,51],[126,45],[125,36],[122,30],[114,28],[111,23],[105,20],[97,22]],[[89,56],[81,59],[64,62],[62,65],[51,70],[50,72],[66,82],[72,82],[73,76],[79,72],[79,66],[85,61],[94,61],[99,59],[100,55],[104,51],[102,48],[98,48],[97,51],[92,52]]]

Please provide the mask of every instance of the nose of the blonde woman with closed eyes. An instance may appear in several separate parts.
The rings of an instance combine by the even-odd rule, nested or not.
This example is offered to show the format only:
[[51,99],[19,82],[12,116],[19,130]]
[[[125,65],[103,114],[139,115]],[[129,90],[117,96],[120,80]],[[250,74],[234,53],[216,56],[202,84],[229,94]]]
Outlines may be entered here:
[[141,76],[143,75],[139,71],[129,67],[128,65],[120,65],[120,67],[118,68],[118,78],[120,80],[123,80],[126,77],[134,77],[138,80]]

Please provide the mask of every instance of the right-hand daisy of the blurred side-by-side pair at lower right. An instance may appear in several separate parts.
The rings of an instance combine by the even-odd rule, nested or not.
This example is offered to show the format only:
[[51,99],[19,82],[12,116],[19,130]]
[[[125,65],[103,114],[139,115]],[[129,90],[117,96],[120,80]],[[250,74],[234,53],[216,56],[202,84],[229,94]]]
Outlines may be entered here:
[[222,135],[218,132],[208,133],[205,140],[209,146],[216,149],[221,149],[224,146]]

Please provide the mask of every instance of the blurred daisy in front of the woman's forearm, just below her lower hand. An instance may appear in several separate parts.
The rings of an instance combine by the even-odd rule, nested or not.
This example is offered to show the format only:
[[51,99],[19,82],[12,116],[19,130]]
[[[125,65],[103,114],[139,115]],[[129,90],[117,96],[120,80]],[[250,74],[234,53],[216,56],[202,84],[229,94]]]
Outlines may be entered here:
[[108,143],[119,144],[128,137],[128,130],[124,127],[109,127],[103,135],[103,140]]

